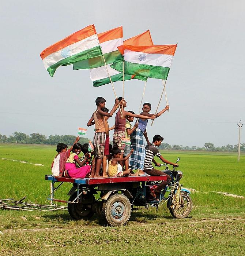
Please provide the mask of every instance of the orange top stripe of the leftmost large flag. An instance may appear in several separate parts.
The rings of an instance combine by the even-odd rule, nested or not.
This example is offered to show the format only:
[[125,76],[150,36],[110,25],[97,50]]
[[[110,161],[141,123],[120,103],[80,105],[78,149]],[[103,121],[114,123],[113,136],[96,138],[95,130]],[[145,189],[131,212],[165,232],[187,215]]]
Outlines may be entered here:
[[49,47],[47,47],[45,50],[43,50],[40,53],[40,56],[42,59],[46,58],[48,55],[52,54],[53,52],[57,52],[65,47],[67,47],[68,45],[74,44],[78,41],[81,41],[87,37],[93,36],[94,34],[96,34],[96,30],[94,25],[89,25],[84,29],[81,29],[67,37],[65,37],[64,39],[60,40],[59,42],[50,45]]

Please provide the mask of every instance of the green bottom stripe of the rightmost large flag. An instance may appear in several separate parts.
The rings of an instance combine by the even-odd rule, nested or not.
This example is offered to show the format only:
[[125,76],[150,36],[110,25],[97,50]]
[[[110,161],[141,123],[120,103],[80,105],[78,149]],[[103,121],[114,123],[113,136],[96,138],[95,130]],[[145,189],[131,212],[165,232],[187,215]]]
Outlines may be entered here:
[[[122,72],[122,61],[115,62],[110,65],[110,67]],[[166,80],[169,70],[169,67],[151,66],[124,61],[124,73],[126,74]]]

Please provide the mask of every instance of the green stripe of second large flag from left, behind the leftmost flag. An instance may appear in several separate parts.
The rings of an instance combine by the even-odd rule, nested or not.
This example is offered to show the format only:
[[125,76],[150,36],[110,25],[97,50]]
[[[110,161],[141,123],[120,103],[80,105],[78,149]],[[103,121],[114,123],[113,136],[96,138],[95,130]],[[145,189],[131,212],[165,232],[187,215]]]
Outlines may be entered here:
[[[106,64],[113,63],[122,60],[122,55],[120,51],[113,51],[103,54]],[[73,69],[93,69],[95,67],[105,66],[105,62],[102,56],[96,58],[88,59],[87,61],[78,61],[73,63]]]

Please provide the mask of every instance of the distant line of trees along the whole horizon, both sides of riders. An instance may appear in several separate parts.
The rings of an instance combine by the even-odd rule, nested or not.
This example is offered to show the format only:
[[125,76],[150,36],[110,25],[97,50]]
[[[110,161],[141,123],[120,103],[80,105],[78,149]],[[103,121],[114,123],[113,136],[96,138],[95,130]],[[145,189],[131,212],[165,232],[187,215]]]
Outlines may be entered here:
[[[47,136],[38,133],[32,133],[30,136],[24,134],[23,132],[14,132],[13,135],[7,137],[6,135],[0,134],[0,143],[22,143],[22,144],[46,144],[46,145],[56,145],[57,143],[63,142],[67,145],[72,145],[76,139],[74,135],[49,135]],[[79,143],[88,143],[89,139],[80,137]],[[112,142],[110,142],[112,143]],[[206,142],[203,147],[196,146],[182,146],[173,145],[168,143],[162,143],[159,149],[169,149],[169,150],[208,150],[208,151],[237,151],[238,144],[236,145],[226,145],[221,147],[215,147],[213,143]],[[240,143],[240,151],[245,152],[245,143]]]

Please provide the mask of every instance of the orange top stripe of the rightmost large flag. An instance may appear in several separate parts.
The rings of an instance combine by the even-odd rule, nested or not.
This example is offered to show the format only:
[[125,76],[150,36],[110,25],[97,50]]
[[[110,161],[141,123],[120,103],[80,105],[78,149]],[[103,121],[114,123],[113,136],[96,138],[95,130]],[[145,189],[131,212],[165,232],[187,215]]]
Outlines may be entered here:
[[[157,54],[168,54],[174,55],[177,44],[170,45],[150,45],[150,46],[134,46],[134,45],[123,45],[122,48],[118,47],[121,52],[123,50],[130,50],[134,52],[145,52],[145,53],[157,53]],[[120,48],[120,49],[119,49]],[[122,52],[121,52],[122,53]]]

